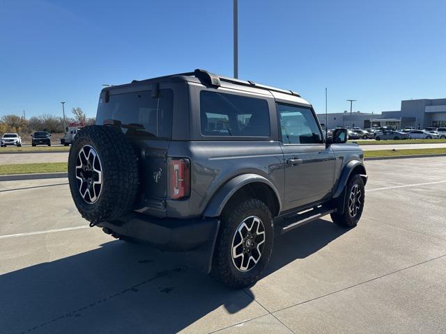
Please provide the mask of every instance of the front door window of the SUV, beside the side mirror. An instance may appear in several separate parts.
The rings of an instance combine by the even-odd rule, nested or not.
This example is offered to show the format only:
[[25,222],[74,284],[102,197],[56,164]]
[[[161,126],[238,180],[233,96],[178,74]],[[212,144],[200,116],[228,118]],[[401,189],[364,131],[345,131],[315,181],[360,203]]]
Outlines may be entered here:
[[311,109],[277,104],[282,143],[316,144],[323,143],[321,132]]

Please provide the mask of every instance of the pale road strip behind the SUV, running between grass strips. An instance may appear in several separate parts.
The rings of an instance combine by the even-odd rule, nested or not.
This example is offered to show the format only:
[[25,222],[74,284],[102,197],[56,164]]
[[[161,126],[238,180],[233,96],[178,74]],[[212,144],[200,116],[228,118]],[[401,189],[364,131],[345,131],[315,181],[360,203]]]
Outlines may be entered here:
[[[397,145],[361,145],[362,150],[405,150],[415,148],[446,148],[446,143],[433,144],[397,144]],[[68,152],[45,152],[45,153],[17,153],[0,154],[0,165],[4,164],[31,164],[43,162],[66,162]]]

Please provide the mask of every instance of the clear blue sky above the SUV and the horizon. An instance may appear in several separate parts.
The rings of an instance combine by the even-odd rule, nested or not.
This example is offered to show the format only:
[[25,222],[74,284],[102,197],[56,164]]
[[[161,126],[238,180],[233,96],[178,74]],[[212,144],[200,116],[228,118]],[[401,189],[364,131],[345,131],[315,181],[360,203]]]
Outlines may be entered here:
[[[239,77],[325,111],[446,97],[446,1],[239,0]],[[0,116],[95,116],[102,84],[232,76],[232,1],[0,0]]]

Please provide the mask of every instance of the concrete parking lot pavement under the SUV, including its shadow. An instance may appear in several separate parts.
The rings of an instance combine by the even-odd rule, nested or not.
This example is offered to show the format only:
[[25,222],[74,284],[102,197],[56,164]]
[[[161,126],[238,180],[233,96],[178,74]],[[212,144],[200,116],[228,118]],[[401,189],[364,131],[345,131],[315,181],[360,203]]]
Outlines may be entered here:
[[323,218],[277,237],[241,291],[86,228],[64,179],[0,182],[0,331],[445,333],[445,164],[367,161],[357,228]]

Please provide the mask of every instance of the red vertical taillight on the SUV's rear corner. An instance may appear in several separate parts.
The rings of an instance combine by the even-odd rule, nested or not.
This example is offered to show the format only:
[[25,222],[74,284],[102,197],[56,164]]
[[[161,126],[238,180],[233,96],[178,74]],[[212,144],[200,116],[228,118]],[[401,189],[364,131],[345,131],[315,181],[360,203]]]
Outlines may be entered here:
[[190,166],[189,159],[171,159],[170,170],[170,198],[180,200],[190,194]]

